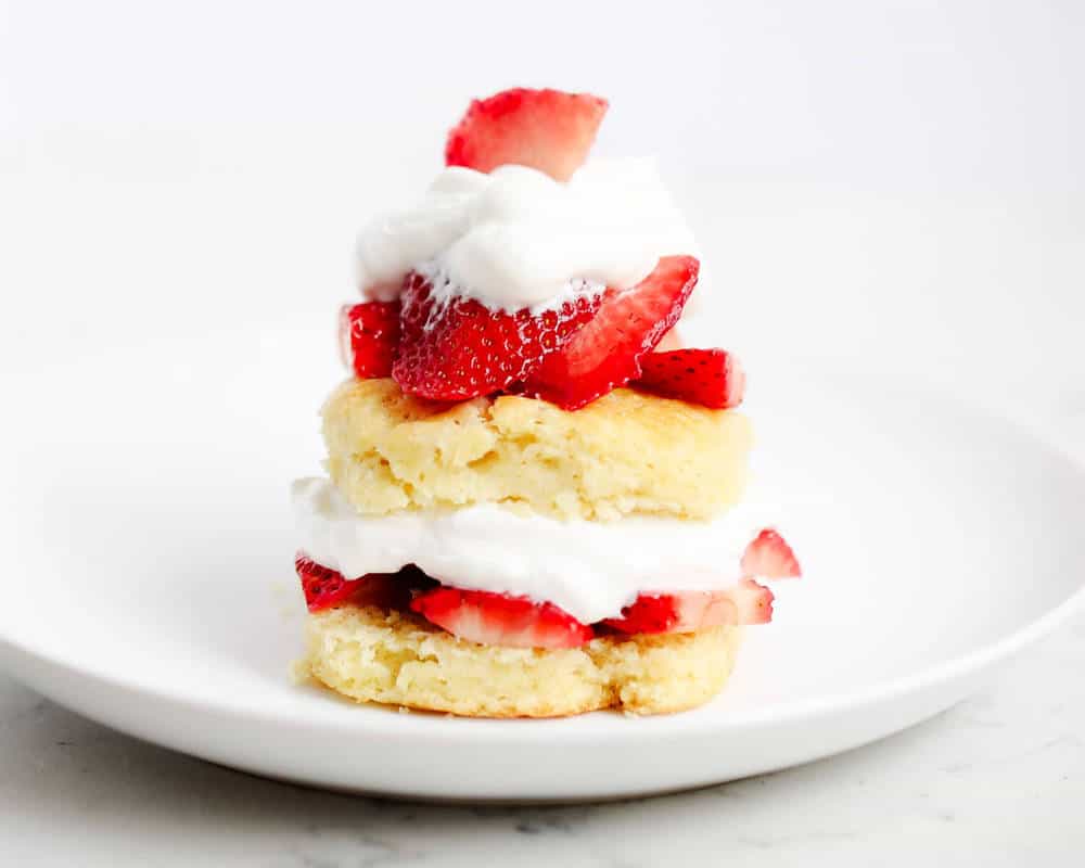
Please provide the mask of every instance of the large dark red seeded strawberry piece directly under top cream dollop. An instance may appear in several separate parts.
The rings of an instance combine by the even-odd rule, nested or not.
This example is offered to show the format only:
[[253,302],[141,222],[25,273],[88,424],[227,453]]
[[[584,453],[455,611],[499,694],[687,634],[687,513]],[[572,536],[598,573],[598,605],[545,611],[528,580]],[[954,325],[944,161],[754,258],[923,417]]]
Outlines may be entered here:
[[403,292],[403,337],[392,375],[404,392],[433,400],[490,395],[524,379],[591,319],[600,296],[566,302],[557,311],[532,316],[489,310],[473,298],[434,301],[421,275]]

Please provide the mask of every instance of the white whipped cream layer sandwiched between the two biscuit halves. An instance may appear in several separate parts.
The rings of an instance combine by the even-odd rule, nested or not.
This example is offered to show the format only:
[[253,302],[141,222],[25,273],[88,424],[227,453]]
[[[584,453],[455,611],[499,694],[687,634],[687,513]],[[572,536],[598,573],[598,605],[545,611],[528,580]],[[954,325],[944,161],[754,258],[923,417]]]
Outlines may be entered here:
[[302,550],[347,578],[413,563],[443,584],[552,602],[585,624],[617,616],[639,593],[733,585],[766,526],[749,505],[704,523],[562,522],[493,503],[368,516],[323,478],[296,481],[291,499]]

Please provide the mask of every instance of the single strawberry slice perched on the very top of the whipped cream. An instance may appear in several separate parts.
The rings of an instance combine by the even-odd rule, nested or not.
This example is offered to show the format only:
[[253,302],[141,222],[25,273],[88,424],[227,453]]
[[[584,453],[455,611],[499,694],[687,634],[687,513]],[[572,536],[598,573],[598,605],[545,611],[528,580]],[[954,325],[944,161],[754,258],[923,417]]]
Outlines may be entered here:
[[445,165],[492,171],[518,164],[567,181],[605,113],[607,100],[560,90],[513,88],[475,100],[448,133]]

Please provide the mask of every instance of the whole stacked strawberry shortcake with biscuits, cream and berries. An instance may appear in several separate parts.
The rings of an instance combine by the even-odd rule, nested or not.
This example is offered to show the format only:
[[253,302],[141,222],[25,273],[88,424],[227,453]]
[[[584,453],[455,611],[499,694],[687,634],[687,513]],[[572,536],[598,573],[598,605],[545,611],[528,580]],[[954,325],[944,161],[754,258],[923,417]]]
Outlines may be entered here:
[[328,476],[293,486],[303,667],[345,697],[689,709],[800,574],[742,502],[742,369],[677,336],[688,228],[650,162],[587,161],[607,107],[473,102],[421,199],[361,234]]

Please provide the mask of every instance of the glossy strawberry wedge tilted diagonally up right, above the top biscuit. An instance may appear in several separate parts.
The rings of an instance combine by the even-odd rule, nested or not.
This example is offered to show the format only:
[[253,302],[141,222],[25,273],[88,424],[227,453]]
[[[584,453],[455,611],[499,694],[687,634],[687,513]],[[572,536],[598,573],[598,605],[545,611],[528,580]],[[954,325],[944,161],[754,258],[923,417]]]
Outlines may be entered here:
[[681,316],[699,269],[692,256],[667,256],[636,286],[608,292],[596,316],[529,372],[525,393],[577,410],[636,380]]

